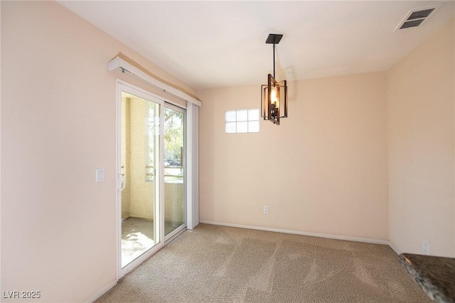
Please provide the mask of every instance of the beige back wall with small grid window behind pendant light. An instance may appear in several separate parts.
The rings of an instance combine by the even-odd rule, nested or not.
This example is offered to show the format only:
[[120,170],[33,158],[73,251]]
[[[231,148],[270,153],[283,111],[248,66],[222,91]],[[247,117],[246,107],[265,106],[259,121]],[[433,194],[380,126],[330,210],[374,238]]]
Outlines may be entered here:
[[257,134],[224,129],[259,86],[198,92],[200,220],[387,240],[386,92],[385,73],[289,83],[289,118]]

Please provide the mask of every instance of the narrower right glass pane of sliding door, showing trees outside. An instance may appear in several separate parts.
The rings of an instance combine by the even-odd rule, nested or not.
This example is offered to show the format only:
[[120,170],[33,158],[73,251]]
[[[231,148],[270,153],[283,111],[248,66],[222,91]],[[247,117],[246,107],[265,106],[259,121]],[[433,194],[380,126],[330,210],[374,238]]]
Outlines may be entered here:
[[185,112],[164,107],[164,233],[171,237],[186,226]]

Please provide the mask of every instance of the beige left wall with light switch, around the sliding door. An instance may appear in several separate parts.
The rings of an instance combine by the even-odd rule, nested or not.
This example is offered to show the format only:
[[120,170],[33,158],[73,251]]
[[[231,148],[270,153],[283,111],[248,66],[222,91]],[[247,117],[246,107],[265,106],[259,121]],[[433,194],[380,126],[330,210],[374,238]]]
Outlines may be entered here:
[[195,91],[56,2],[0,5],[1,290],[83,302],[116,279],[118,74],[107,63],[121,51]]

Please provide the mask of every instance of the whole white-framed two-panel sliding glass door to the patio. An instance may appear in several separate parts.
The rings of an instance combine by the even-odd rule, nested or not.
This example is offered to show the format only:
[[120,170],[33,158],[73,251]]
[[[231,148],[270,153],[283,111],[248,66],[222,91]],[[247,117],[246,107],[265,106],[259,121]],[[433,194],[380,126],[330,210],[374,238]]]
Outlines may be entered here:
[[186,228],[185,110],[127,83],[117,93],[122,277]]

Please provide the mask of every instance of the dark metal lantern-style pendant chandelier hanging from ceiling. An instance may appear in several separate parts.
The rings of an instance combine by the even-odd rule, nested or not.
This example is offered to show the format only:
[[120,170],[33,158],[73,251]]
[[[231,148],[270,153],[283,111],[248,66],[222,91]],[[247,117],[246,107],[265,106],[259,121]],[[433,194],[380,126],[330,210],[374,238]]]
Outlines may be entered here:
[[271,33],[265,43],[273,44],[273,76],[268,75],[267,85],[261,85],[261,117],[279,125],[279,118],[287,118],[287,82],[275,80],[275,44],[283,35]]

